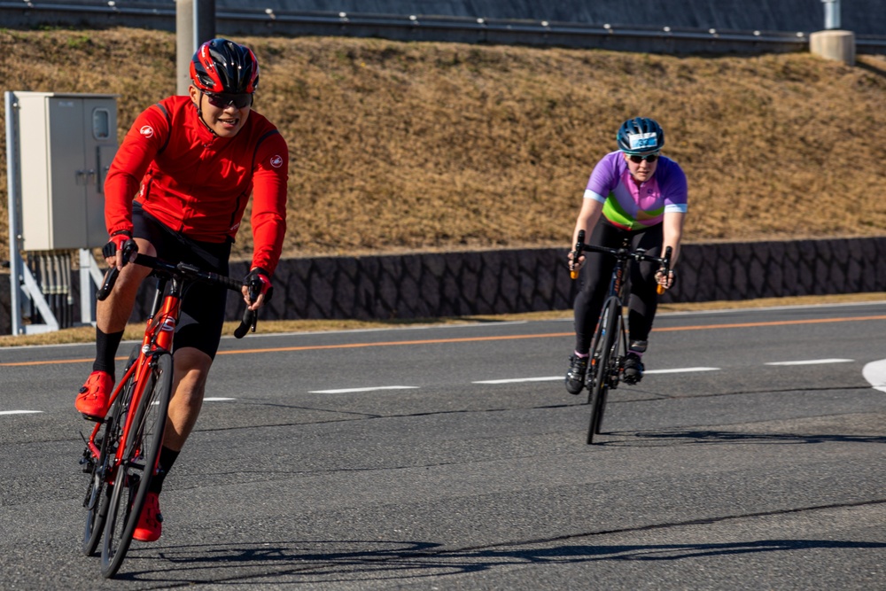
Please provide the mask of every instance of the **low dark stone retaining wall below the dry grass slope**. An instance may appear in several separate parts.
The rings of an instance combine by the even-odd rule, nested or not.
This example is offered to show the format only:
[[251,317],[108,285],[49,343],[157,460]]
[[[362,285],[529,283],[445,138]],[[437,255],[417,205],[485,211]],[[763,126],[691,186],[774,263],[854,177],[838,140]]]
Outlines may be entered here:
[[[565,253],[548,248],[285,260],[262,316],[374,320],[570,309],[577,283]],[[245,263],[232,265],[231,276],[245,272]],[[677,273],[663,302],[886,292],[886,237],[689,244]],[[150,304],[144,289],[132,320],[143,320]],[[241,314],[241,301],[231,294],[228,319]],[[0,334],[9,334],[10,325],[8,276],[0,276]]]

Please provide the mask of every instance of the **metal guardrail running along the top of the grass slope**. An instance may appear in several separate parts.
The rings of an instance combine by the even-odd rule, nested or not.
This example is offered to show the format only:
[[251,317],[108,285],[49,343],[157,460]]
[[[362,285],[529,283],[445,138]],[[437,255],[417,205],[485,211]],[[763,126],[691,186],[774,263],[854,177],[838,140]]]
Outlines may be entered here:
[[[803,51],[809,45],[811,33],[595,25],[430,15],[284,12],[271,8],[221,9],[216,10],[215,18],[217,26],[229,35],[267,35],[272,32],[416,40],[445,40],[451,37],[455,41],[583,46],[605,46],[607,39],[618,39],[620,43],[631,43],[632,40],[645,42],[641,49],[688,43],[688,51],[693,51],[693,47],[711,51],[717,51],[718,48],[726,48],[726,51],[742,51],[742,48],[750,51]],[[4,1],[0,2],[0,21],[7,27],[67,24],[79,27],[119,25],[175,30],[175,3],[125,0],[73,0],[70,4],[40,0]],[[886,36],[860,35],[856,39],[856,45],[859,53],[886,53]]]

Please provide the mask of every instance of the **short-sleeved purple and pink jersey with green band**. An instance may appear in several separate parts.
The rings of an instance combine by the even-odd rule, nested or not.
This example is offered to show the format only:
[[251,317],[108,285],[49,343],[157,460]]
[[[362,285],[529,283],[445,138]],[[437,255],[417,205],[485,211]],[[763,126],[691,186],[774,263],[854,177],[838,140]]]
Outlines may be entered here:
[[610,152],[594,167],[586,199],[603,204],[603,215],[622,229],[644,229],[664,220],[665,212],[686,213],[687,184],[683,169],[672,159],[658,159],[655,175],[637,186],[621,151]]

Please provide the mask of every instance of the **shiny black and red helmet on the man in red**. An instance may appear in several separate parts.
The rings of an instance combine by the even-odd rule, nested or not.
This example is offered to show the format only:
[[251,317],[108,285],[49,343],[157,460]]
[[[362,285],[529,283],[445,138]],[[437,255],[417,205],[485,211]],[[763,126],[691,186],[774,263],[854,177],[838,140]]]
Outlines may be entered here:
[[248,47],[213,39],[190,60],[190,79],[204,92],[252,94],[259,85],[259,62]]

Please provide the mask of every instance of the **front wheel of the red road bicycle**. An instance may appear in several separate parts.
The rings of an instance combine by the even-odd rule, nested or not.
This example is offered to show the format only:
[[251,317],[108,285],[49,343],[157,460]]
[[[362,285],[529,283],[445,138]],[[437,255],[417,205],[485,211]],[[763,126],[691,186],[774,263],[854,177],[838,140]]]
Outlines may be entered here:
[[102,576],[105,579],[112,578],[120,570],[120,564],[132,543],[132,534],[157,468],[172,380],[172,355],[164,353],[154,356],[144,393],[134,411],[136,414],[124,443],[123,458],[114,477],[102,547]]

